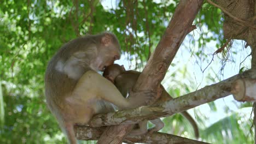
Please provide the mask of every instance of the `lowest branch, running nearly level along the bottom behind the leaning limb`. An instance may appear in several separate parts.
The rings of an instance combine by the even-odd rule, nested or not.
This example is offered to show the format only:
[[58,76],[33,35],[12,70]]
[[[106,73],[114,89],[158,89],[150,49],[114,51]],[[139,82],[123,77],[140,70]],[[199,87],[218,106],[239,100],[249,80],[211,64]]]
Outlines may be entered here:
[[[79,127],[77,128],[77,138],[79,140],[97,140],[102,131],[106,129],[106,127],[101,128],[91,128],[91,127]],[[190,140],[181,136],[158,133],[154,132],[153,134],[146,134],[141,136],[132,136],[127,135],[124,142],[138,142],[138,143],[191,143],[191,144],[200,144],[206,143],[196,140]]]

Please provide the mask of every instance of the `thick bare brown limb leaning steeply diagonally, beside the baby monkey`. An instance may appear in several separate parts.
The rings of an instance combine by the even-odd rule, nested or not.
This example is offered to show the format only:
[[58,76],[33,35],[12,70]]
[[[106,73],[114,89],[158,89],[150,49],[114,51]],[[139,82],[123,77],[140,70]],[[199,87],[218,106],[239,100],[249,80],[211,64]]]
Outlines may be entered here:
[[[182,44],[187,33],[191,31],[191,27],[193,27],[192,23],[196,14],[201,9],[202,3],[203,0],[179,2],[172,20],[168,24],[158,46],[156,46],[154,54],[150,56],[146,67],[139,76],[135,87],[133,87],[133,92],[158,91],[160,82],[164,79],[179,46]],[[143,103],[144,101],[142,101]],[[154,103],[154,100],[152,100],[152,103]],[[132,127],[133,125],[108,127],[97,143],[121,143]],[[120,130],[124,133],[120,134]]]

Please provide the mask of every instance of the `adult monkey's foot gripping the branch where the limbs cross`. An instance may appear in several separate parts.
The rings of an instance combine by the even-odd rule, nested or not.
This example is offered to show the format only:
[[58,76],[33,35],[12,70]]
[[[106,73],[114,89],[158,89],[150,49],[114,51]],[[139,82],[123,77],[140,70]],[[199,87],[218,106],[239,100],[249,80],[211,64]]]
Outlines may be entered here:
[[135,107],[142,105],[151,105],[155,103],[155,101],[158,99],[157,95],[158,94],[154,91],[129,91],[128,100],[132,101]]

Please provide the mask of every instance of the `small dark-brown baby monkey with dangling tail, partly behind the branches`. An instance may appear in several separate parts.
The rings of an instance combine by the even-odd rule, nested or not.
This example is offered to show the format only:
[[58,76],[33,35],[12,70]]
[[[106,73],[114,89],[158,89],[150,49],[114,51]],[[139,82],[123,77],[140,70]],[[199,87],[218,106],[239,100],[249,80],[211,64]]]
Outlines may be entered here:
[[[130,89],[135,85],[139,75],[141,73],[134,70],[125,70],[124,65],[112,64],[104,69],[103,76],[106,77],[109,81],[114,83],[114,85],[119,89],[123,97],[127,97],[127,93],[129,93]],[[164,101],[173,99],[165,90],[165,88],[161,85],[162,94],[160,98],[154,104],[160,104]],[[187,111],[181,112],[182,115],[188,119],[188,121],[193,125],[196,138],[199,137],[199,129],[197,127],[194,119],[189,115]],[[147,121],[143,121],[139,123],[136,127],[131,131],[131,135],[142,135],[149,131],[152,133],[153,131],[158,131],[164,127],[164,123],[160,118],[150,120],[155,127],[151,129],[147,129]]]

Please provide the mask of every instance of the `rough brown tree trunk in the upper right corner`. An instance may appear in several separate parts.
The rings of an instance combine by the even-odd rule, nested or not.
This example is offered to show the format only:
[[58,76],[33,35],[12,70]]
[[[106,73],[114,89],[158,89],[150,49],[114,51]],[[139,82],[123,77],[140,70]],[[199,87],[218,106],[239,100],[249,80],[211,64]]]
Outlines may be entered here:
[[[227,10],[230,14],[240,20],[246,21],[248,25],[253,26],[253,16],[255,15],[255,0],[216,0],[216,3]],[[255,29],[248,27],[246,23],[241,23],[228,14],[224,13],[223,31],[225,39],[246,40],[249,45],[254,43]],[[255,27],[255,25],[254,25]]]

